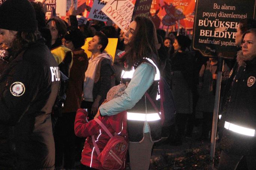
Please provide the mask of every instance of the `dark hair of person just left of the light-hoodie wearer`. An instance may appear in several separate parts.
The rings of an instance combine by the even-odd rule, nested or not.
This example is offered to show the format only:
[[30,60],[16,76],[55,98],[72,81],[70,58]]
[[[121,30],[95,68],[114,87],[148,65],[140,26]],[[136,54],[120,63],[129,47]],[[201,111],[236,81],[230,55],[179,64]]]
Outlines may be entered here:
[[75,48],[80,48],[85,44],[83,33],[78,28],[68,27],[64,38],[65,40],[72,41]]

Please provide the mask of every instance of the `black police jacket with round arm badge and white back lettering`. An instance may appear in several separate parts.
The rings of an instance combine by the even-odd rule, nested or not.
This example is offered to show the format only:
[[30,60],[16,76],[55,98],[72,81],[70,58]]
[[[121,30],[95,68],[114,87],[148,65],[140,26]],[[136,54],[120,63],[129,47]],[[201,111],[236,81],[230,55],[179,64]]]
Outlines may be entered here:
[[54,169],[50,113],[60,76],[51,51],[37,42],[0,74],[0,169]]

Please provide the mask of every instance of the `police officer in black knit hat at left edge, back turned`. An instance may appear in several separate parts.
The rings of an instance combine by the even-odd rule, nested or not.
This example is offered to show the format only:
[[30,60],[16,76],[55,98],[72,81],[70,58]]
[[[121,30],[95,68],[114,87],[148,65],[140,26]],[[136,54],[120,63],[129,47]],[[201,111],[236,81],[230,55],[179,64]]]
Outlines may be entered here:
[[0,169],[54,170],[50,113],[60,72],[28,0],[1,4],[0,43],[10,47],[0,73]]

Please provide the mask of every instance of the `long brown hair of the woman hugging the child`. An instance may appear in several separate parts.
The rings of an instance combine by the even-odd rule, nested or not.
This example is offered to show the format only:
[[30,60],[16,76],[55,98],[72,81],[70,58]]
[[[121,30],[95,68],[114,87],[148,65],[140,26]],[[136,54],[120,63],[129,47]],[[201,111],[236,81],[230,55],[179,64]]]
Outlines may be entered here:
[[149,18],[140,16],[137,16],[134,21],[137,24],[134,35],[126,45],[126,53],[121,59],[121,62],[126,62],[129,66],[144,57],[151,58],[152,54],[157,54],[155,24]]

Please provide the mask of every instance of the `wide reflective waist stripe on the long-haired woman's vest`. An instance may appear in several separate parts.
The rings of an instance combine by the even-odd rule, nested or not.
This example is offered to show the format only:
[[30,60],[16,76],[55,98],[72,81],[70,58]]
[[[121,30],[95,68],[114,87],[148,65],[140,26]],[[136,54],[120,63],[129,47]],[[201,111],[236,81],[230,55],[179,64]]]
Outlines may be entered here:
[[160,120],[158,113],[131,113],[127,112],[127,120],[155,121]]

